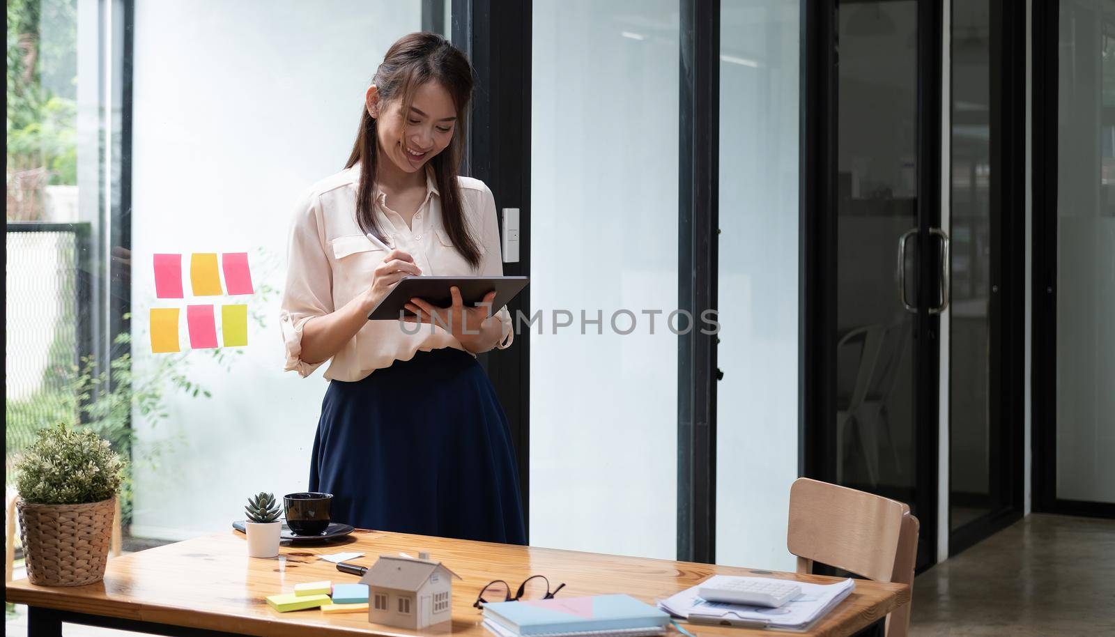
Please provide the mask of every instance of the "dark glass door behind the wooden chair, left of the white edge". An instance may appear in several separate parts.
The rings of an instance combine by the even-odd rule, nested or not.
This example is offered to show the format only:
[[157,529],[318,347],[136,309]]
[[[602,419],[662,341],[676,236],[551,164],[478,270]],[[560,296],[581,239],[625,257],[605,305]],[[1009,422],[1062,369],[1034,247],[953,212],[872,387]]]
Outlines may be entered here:
[[910,504],[919,566],[935,552],[943,247],[931,23],[918,0],[837,3],[834,477]]

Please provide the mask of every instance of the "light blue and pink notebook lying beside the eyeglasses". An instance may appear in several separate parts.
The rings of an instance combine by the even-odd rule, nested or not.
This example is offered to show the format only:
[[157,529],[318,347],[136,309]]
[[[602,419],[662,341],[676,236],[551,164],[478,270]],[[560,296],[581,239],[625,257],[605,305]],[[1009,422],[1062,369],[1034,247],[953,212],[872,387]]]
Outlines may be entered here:
[[484,617],[517,635],[666,626],[670,616],[629,595],[598,595],[484,605]]

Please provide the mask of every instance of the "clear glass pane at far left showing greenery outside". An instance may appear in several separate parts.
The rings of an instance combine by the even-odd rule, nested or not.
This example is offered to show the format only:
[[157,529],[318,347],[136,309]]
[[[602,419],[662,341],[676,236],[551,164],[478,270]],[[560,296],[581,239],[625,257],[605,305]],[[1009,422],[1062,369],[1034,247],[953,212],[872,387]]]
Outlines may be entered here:
[[[96,2],[11,0],[8,10],[6,493],[12,463],[55,422],[85,422],[125,455],[128,418],[94,416],[118,320],[109,307],[119,185],[117,68],[98,47],[120,36]],[[123,359],[127,361],[126,357]],[[88,377],[86,377],[88,374]],[[81,395],[89,394],[81,403]],[[127,506],[125,515],[130,511]],[[17,534],[18,542],[18,534]]]

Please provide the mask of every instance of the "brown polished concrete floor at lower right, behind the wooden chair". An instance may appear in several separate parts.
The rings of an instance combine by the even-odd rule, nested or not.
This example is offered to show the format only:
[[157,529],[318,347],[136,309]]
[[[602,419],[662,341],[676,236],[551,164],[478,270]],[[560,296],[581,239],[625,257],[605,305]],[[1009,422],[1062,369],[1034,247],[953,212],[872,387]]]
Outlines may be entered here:
[[918,576],[914,636],[1115,635],[1115,520],[1029,515]]

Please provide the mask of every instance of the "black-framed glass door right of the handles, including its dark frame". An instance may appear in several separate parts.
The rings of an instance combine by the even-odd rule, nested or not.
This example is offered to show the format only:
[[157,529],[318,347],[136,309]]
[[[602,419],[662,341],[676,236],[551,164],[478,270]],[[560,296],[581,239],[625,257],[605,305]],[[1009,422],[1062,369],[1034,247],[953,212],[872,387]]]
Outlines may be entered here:
[[1020,409],[1005,388],[1022,380],[1025,79],[1016,59],[1025,58],[1010,54],[1021,42],[1010,36],[1022,10],[1001,0],[957,2],[949,25],[950,553],[1021,514]]

